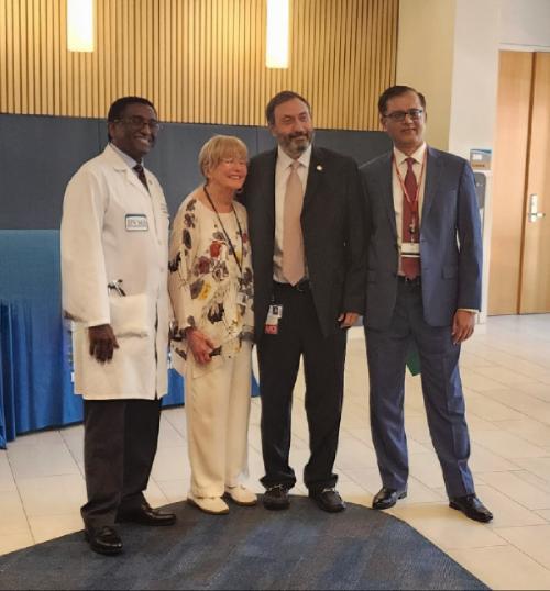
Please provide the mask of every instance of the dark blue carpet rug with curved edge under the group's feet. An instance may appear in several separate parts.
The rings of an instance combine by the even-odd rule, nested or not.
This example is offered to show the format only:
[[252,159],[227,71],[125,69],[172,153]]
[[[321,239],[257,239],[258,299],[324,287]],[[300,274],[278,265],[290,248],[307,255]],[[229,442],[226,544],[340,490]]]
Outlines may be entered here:
[[174,527],[121,526],[118,557],[91,553],[81,532],[1,556],[0,589],[487,589],[402,521],[356,504],[169,508]]

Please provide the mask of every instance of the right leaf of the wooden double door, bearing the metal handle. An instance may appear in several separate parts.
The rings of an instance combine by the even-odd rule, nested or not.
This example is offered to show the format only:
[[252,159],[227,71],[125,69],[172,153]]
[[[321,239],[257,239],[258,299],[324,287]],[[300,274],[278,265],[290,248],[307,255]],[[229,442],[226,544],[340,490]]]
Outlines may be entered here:
[[535,54],[519,312],[550,312],[550,53]]

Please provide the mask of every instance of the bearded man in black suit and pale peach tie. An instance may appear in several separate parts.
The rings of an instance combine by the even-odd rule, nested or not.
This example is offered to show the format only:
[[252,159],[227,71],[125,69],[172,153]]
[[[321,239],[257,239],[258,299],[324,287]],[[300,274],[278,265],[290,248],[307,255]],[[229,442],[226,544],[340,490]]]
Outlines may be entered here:
[[267,509],[287,509],[293,390],[304,356],[309,495],[324,511],[345,505],[332,468],[343,397],[345,341],[364,304],[363,204],[355,163],[312,146],[306,99],[276,94],[266,119],[275,149],[252,158],[242,202],[254,267],[255,338],[262,392]]

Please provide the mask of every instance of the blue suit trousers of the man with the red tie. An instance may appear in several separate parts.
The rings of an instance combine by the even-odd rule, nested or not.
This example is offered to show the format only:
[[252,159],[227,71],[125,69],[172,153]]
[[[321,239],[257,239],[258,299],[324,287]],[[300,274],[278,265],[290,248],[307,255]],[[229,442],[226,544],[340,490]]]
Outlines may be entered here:
[[410,342],[420,355],[422,393],[430,436],[447,493],[474,492],[468,467],[470,438],[459,373],[460,345],[451,326],[430,326],[424,320],[420,285],[399,282],[387,330],[366,330],[371,382],[371,428],[384,487],[407,488],[408,456],[404,425],[405,361]]

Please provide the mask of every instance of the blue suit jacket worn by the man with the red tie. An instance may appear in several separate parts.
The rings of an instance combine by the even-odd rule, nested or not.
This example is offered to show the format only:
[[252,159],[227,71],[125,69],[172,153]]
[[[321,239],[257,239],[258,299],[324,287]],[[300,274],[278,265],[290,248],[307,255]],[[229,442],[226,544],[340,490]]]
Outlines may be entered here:
[[[365,324],[387,328],[397,297],[399,250],[392,188],[392,155],[361,167],[369,244]],[[448,326],[458,308],[481,309],[481,220],[466,160],[428,147],[420,227],[426,322]]]

